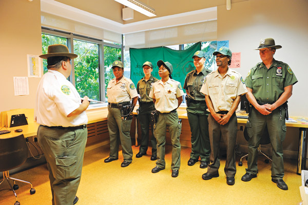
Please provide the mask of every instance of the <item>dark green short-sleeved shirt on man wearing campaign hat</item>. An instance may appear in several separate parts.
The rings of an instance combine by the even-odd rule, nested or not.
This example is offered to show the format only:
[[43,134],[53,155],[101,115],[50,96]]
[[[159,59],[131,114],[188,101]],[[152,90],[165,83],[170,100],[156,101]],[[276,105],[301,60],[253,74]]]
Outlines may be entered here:
[[252,68],[246,79],[247,88],[253,89],[253,95],[259,103],[273,104],[284,92],[284,88],[297,83],[291,68],[282,61],[273,60],[269,69],[262,63]]

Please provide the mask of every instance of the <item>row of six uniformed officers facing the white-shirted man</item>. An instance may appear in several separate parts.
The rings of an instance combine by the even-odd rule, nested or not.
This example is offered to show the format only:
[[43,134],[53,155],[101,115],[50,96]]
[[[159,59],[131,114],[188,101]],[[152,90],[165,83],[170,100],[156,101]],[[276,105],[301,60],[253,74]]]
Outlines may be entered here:
[[[287,190],[283,181],[283,151],[282,141],[285,137],[285,102],[292,95],[292,87],[297,79],[291,68],[274,59],[276,49],[273,38],[262,39],[259,50],[262,63],[251,69],[245,79],[228,68],[232,52],[227,47],[221,47],[213,53],[216,56],[218,69],[210,71],[204,68],[205,55],[197,51],[194,58],[195,70],[186,76],[183,88],[186,90],[187,117],[191,130],[191,153],[188,166],[199,161],[200,168],[208,170],[202,175],[204,180],[218,177],[220,167],[220,140],[223,138],[226,146],[225,174],[228,185],[234,185],[236,174],[235,144],[237,136],[236,109],[241,95],[246,94],[251,103],[251,112],[247,121],[248,168],[242,177],[249,181],[257,176],[258,146],[263,130],[267,126],[269,138],[273,146],[272,181],[282,190]],[[139,80],[137,89],[132,81],[123,76],[124,68],[121,61],[112,65],[115,78],[107,87],[108,97],[108,129],[110,135],[110,156],[105,162],[118,159],[119,140],[123,148],[126,167],[132,160],[132,149],[129,128],[131,118],[121,116],[119,110],[122,104],[136,105],[140,97],[138,118],[141,126],[141,145],[137,158],[146,154],[148,148],[149,126],[152,128],[151,160],[156,161],[152,173],[165,169],[166,128],[170,133],[172,143],[172,177],[179,175],[181,158],[181,120],[177,108],[182,103],[184,94],[181,84],[172,79],[172,65],[168,61],[157,62],[159,76],[152,76],[153,66],[146,61],[142,68],[145,76]],[[120,73],[120,74],[119,74]],[[248,92],[247,92],[248,91]],[[151,113],[156,111],[157,120],[151,120]]]

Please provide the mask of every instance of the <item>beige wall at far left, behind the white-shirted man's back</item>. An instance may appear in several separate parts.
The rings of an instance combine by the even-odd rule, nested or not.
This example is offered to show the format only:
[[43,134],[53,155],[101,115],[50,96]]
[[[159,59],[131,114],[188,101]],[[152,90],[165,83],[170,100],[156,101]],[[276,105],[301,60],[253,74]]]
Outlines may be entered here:
[[0,1],[0,112],[35,107],[41,78],[28,79],[29,95],[15,96],[13,76],[28,76],[27,54],[42,54],[40,9],[40,0]]

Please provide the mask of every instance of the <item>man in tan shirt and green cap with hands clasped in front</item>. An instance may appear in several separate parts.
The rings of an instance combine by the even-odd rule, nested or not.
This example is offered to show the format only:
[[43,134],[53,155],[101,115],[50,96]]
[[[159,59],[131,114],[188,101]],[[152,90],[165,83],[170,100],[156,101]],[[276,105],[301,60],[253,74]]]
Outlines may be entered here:
[[211,163],[202,178],[208,180],[219,176],[219,144],[220,138],[223,137],[227,150],[224,172],[227,176],[227,185],[234,185],[237,133],[235,111],[240,103],[241,95],[245,94],[247,89],[242,76],[228,68],[228,65],[231,64],[232,52],[227,47],[221,47],[213,55],[216,55],[218,69],[206,76],[200,91],[205,95],[206,105],[210,112],[208,132],[211,149],[209,158]]

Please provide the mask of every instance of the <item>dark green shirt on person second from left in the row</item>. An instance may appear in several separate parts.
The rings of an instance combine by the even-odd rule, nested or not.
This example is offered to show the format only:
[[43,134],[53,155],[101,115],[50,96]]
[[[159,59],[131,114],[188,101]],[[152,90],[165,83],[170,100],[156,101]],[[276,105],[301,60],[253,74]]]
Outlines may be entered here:
[[140,94],[140,100],[142,103],[152,102],[153,99],[149,97],[150,90],[152,88],[152,84],[155,83],[158,79],[153,77],[151,74],[148,81],[145,81],[145,77],[141,78],[141,80],[137,83],[137,92]]

